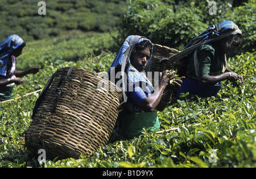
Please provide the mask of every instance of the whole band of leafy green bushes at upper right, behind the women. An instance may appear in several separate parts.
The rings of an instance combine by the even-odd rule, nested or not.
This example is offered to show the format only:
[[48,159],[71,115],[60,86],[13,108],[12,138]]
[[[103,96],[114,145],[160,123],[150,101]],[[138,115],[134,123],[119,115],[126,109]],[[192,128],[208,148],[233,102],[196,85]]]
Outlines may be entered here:
[[232,9],[231,2],[216,2],[217,14],[209,15],[209,1],[181,1],[171,6],[163,1],[127,1],[126,13],[117,23],[120,40],[128,35],[142,35],[156,44],[183,49],[210,24],[232,20],[240,27],[244,41],[239,51],[255,51],[255,3]]

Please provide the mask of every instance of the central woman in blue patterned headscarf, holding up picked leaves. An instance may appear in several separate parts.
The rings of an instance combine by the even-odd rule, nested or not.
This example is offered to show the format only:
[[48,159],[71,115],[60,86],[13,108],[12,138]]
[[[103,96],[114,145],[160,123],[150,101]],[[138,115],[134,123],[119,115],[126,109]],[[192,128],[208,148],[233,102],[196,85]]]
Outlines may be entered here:
[[[172,93],[180,88],[182,81],[174,79],[175,72],[159,73],[159,84],[154,88],[148,80],[144,70],[150,63],[152,56],[152,43],[141,36],[126,38],[112,66],[109,70],[111,76],[117,77],[115,84],[120,85],[124,91],[125,109],[119,116],[117,129],[112,140],[131,139],[142,135],[143,128],[158,130],[160,127],[158,115],[155,110],[162,111],[171,101]],[[118,72],[121,71],[119,78]]]

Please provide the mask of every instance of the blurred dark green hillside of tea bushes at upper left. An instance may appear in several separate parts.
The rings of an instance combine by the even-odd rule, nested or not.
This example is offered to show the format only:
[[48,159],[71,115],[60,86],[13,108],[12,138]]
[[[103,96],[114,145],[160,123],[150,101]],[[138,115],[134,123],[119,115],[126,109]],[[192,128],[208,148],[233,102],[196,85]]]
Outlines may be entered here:
[[19,34],[24,40],[45,39],[63,31],[112,31],[126,1],[56,0],[46,2],[46,15],[39,15],[39,1],[0,1],[0,40]]

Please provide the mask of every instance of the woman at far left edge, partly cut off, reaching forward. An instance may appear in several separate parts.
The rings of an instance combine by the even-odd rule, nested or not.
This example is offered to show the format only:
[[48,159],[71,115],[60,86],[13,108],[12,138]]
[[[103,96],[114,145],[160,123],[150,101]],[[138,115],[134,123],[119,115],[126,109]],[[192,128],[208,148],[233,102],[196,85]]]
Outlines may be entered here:
[[0,101],[13,98],[14,85],[23,82],[21,77],[38,73],[37,67],[16,70],[16,57],[22,54],[26,43],[18,35],[11,35],[0,43]]

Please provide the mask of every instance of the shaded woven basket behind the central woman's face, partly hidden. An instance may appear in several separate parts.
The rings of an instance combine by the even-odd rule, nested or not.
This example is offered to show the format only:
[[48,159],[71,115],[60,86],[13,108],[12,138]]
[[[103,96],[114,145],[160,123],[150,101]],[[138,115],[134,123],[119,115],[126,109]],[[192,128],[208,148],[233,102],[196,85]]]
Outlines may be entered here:
[[179,76],[184,76],[187,73],[187,68],[189,64],[188,59],[181,59],[174,63],[169,63],[168,61],[171,56],[174,56],[179,52],[180,51],[177,51],[174,48],[153,44],[152,59],[150,60],[150,64],[148,64],[146,71],[164,72],[164,70],[177,70],[177,74]]

